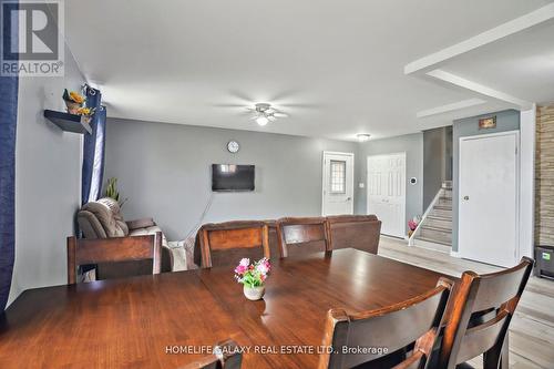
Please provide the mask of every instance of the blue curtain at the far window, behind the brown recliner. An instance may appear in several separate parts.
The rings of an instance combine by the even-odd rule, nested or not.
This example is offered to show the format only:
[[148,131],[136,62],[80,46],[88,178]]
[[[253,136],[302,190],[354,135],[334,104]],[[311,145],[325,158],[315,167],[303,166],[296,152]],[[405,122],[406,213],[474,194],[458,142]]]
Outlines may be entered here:
[[82,170],[82,205],[99,199],[104,176],[106,110],[99,90],[85,86],[86,106],[94,107],[92,134],[84,135]]

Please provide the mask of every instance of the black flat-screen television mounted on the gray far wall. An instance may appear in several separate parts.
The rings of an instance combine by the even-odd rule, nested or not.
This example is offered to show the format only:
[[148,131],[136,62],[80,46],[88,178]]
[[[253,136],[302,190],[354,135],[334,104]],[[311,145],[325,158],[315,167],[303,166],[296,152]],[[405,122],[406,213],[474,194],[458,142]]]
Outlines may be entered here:
[[212,164],[212,191],[254,191],[254,165]]

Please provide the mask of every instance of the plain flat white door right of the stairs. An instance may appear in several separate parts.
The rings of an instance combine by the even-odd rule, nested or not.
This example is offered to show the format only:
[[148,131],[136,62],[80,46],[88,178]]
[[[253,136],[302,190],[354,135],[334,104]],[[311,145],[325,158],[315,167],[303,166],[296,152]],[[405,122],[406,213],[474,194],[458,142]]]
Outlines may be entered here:
[[517,132],[460,140],[460,256],[500,266],[516,262]]

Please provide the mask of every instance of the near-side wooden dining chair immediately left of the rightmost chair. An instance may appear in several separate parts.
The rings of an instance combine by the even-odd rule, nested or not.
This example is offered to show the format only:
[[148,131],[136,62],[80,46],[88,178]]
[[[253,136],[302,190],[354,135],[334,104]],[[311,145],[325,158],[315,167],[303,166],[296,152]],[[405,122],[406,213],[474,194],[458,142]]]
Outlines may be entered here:
[[329,310],[322,347],[332,352],[325,350],[319,369],[425,368],[452,286],[440,278],[435,288],[391,306],[353,315]]

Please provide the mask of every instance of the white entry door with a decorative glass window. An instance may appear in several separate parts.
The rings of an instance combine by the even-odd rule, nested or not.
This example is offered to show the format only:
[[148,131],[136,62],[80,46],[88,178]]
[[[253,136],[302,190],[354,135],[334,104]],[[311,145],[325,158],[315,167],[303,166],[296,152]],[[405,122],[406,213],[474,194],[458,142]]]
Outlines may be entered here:
[[324,152],[321,214],[353,214],[353,154]]

